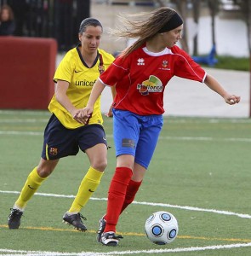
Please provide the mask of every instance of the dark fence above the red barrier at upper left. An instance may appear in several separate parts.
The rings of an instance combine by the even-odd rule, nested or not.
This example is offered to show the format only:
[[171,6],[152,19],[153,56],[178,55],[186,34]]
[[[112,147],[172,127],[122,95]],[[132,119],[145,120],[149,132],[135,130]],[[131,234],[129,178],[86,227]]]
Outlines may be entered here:
[[14,11],[15,36],[56,38],[59,50],[77,44],[80,22],[90,15],[88,0],[0,0]]

